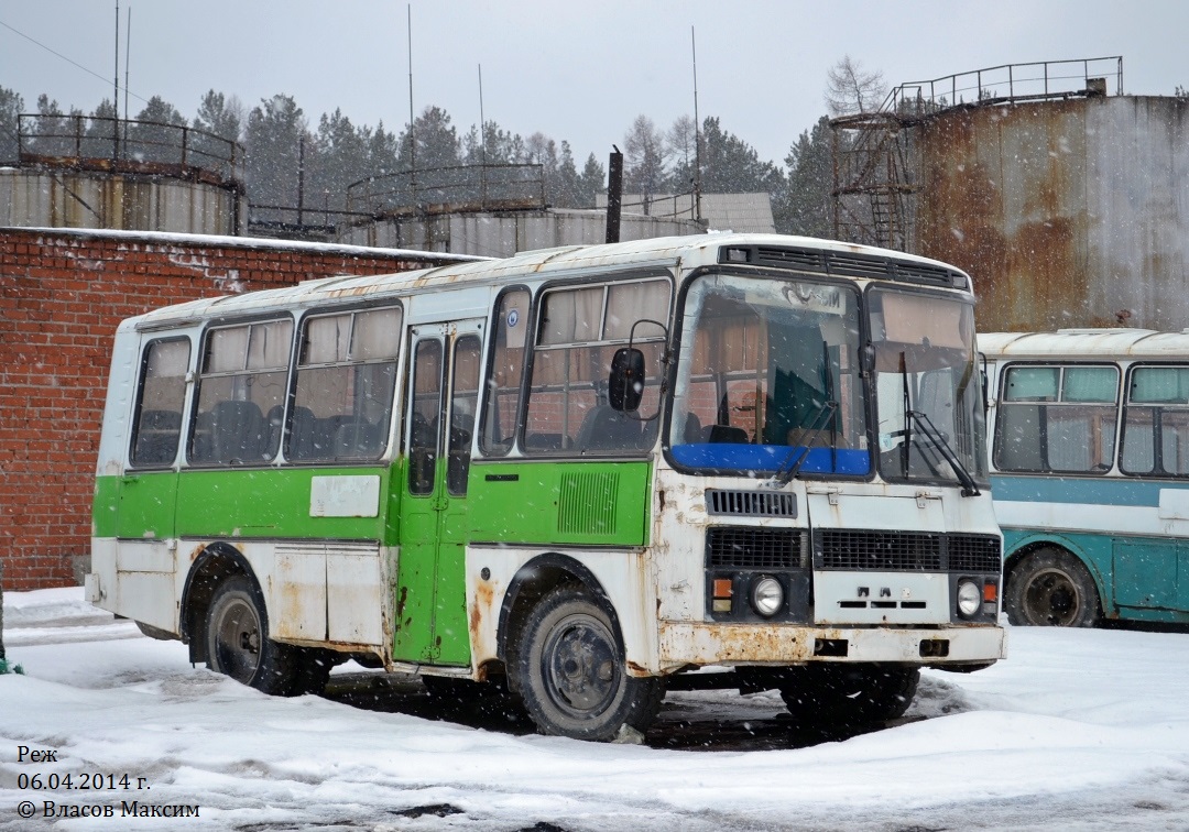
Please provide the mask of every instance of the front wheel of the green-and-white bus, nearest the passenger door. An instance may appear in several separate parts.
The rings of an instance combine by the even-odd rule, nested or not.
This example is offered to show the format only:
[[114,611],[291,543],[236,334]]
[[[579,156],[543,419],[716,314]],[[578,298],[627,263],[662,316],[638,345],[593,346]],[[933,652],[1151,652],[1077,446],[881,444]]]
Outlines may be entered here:
[[531,611],[514,673],[541,733],[608,742],[643,735],[660,710],[659,679],[628,675],[611,616],[584,590],[561,586]]

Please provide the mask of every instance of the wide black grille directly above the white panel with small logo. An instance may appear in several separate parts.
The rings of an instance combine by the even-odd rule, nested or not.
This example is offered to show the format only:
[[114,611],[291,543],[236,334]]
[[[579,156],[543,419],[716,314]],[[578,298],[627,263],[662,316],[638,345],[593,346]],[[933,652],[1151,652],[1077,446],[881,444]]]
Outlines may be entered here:
[[999,538],[920,531],[822,529],[818,566],[857,572],[999,572]]

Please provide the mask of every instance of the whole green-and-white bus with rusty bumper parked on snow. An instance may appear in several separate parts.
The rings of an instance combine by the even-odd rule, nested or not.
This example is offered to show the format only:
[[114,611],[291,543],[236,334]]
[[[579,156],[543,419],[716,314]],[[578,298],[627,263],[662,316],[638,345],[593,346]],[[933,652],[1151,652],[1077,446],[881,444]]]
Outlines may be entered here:
[[88,598],[275,694],[353,658],[610,739],[716,667],[888,719],[1005,655],[973,321],[952,266],[734,234],[163,308]]

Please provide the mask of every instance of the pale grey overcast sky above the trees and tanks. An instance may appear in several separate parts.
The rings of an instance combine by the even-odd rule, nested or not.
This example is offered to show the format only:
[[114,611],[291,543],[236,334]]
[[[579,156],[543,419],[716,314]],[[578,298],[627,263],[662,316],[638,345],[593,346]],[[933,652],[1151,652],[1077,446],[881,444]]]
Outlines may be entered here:
[[[90,113],[113,94],[115,5],[5,0],[0,86],[26,111],[48,93]],[[122,0],[119,80],[131,57],[133,116],[153,95],[193,119],[208,89],[249,108],[284,93],[313,130],[339,107],[357,125],[400,131],[410,10],[417,113],[442,107],[460,134],[478,124],[482,67],[484,116],[568,140],[579,166],[591,152],[605,164],[641,113],[661,130],[693,114],[692,40],[699,116],[718,116],[778,165],[825,114],[826,73],[845,55],[888,86],[1121,56],[1127,94],[1189,87],[1189,4],[1179,0]]]

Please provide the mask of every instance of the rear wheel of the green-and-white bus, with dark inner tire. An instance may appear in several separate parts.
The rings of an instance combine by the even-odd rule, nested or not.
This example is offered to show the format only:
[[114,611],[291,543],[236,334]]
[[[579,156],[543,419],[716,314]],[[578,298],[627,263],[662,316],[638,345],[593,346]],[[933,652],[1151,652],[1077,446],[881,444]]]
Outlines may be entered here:
[[232,575],[215,590],[207,611],[207,666],[276,697],[297,693],[295,648],[269,638],[264,599],[246,575]]

